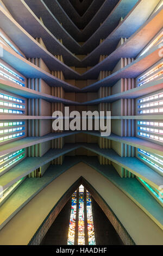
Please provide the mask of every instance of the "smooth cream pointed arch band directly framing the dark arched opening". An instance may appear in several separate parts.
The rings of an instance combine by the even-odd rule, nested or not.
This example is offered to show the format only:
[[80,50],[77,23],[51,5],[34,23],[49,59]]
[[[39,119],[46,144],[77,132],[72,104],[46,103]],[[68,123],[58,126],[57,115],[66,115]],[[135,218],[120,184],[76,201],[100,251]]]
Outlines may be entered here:
[[[85,163],[78,163],[45,187],[5,225],[0,232],[1,244],[27,245],[53,206],[81,175],[114,211],[136,245],[160,245],[162,243],[162,230],[145,212],[95,169]],[[54,194],[53,197],[52,194]],[[23,230],[26,230],[25,234]]]

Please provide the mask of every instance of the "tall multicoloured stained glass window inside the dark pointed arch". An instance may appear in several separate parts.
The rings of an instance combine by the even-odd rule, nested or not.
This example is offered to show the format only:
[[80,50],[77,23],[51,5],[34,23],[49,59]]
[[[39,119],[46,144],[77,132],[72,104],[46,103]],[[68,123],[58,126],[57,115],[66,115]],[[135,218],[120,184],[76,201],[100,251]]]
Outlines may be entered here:
[[72,194],[67,245],[96,245],[91,194],[83,185]]

